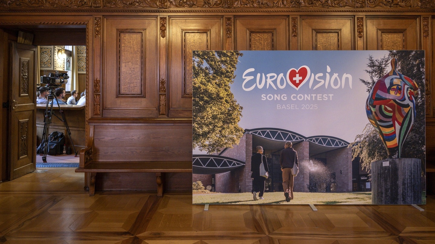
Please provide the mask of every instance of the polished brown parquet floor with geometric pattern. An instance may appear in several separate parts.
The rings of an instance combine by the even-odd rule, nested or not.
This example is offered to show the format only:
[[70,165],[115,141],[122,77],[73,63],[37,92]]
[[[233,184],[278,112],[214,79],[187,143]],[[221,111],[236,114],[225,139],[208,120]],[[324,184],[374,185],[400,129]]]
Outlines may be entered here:
[[410,205],[192,205],[190,194],[83,190],[74,168],[0,183],[4,244],[435,243],[435,196]]

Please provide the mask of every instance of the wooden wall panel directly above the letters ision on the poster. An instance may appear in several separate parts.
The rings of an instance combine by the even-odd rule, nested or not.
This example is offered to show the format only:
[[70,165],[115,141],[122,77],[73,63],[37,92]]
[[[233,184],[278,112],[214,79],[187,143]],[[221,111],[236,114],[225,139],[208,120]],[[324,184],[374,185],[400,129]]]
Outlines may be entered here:
[[301,50],[354,50],[353,17],[301,17]]

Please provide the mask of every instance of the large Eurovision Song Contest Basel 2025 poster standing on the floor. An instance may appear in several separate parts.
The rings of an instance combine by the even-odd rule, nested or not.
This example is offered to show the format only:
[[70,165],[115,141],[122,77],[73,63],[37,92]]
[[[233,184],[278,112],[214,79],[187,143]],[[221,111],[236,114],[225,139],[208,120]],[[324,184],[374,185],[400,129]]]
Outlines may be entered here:
[[425,204],[424,51],[192,62],[193,204]]

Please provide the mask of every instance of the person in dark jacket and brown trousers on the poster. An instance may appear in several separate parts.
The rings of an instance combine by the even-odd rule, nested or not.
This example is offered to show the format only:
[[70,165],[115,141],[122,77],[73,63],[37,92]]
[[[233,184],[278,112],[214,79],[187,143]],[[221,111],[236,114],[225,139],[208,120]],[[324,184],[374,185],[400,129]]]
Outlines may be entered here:
[[291,168],[294,164],[299,166],[298,152],[291,147],[291,142],[285,142],[284,149],[279,156],[279,163],[282,171],[282,188],[284,188],[285,201],[293,199],[293,181],[294,176],[291,174]]

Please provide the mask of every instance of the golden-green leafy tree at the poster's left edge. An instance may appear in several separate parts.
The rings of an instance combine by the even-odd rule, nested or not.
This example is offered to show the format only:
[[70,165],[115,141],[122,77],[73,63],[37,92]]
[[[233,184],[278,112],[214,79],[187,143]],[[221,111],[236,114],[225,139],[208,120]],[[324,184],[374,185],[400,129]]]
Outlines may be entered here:
[[230,90],[239,56],[243,53],[193,53],[193,148],[212,154],[221,148],[232,148],[243,136],[238,125],[243,108]]

